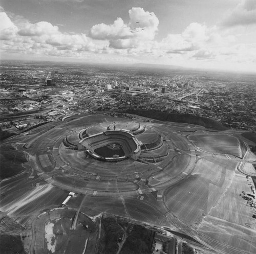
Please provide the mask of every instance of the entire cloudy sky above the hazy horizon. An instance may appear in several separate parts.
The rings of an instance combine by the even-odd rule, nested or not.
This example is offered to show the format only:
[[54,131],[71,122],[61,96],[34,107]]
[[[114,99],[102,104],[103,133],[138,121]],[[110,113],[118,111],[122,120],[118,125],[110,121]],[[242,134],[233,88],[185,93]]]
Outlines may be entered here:
[[256,0],[1,0],[3,59],[256,72]]

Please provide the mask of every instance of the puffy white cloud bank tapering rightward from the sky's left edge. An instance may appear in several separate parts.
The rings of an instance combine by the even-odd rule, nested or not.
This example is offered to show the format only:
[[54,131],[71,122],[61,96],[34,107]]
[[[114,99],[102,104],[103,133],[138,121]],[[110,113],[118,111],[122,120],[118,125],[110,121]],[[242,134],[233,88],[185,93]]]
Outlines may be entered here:
[[46,21],[32,24],[26,19],[21,20],[14,24],[3,9],[0,12],[1,48],[5,52],[75,56],[102,48],[102,44],[95,44],[86,34],[62,33]]

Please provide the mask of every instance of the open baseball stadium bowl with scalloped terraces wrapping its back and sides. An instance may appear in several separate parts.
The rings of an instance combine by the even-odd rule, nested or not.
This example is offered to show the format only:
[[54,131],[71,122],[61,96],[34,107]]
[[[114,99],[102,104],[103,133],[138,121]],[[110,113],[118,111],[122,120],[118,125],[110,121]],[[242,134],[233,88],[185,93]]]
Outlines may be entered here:
[[84,150],[103,161],[132,158],[158,163],[169,155],[169,145],[153,128],[137,122],[104,122],[88,126],[63,139],[67,149]]

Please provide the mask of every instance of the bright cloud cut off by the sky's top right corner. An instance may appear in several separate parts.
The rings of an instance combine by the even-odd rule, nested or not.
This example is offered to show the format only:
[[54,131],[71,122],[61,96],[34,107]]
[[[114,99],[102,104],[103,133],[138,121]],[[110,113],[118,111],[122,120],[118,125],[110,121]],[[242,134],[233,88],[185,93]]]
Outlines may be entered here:
[[230,10],[221,22],[223,27],[246,26],[256,24],[256,1],[242,0],[236,8]]

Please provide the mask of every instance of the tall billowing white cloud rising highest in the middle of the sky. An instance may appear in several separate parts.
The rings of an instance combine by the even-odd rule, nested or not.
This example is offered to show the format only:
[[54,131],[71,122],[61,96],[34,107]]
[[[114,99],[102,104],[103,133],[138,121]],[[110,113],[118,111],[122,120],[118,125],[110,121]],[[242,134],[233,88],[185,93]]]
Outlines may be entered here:
[[118,17],[112,25],[95,25],[89,35],[93,39],[109,40],[110,47],[115,49],[136,48],[145,40],[154,39],[159,20],[153,12],[144,11],[143,8],[132,8],[129,10],[129,17],[127,24]]

